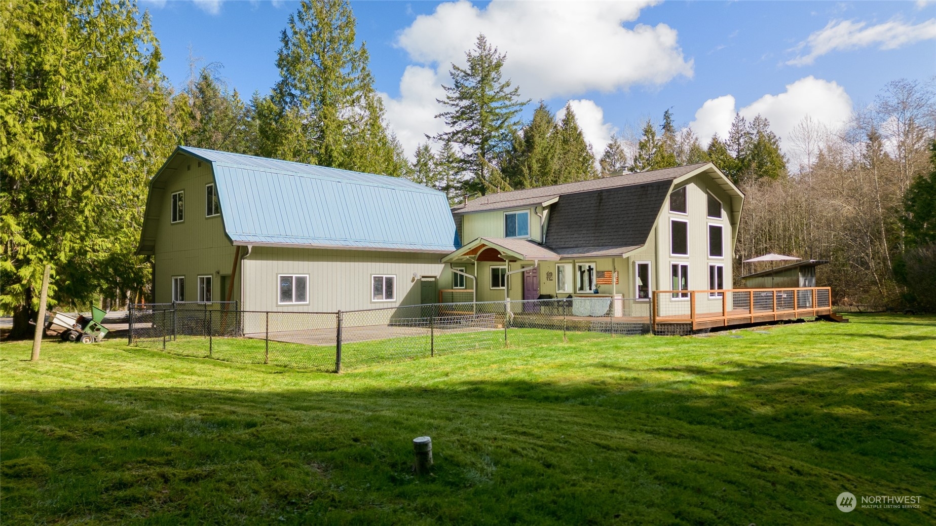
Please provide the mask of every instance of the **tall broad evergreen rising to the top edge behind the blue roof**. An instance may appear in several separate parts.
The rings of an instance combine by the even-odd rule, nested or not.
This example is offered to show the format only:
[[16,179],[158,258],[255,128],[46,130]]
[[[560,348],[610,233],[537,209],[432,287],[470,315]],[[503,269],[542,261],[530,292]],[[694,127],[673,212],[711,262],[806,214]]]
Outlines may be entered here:
[[304,0],[289,16],[272,108],[262,101],[255,107],[262,148],[288,160],[399,176],[405,160],[384,124],[355,25],[344,0]]

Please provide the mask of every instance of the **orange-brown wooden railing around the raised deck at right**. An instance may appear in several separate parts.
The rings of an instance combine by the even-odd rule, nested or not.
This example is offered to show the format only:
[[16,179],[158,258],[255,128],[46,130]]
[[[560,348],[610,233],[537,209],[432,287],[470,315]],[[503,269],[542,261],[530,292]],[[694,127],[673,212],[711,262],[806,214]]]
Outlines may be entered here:
[[827,286],[654,290],[651,324],[691,324],[692,329],[815,317],[832,313]]

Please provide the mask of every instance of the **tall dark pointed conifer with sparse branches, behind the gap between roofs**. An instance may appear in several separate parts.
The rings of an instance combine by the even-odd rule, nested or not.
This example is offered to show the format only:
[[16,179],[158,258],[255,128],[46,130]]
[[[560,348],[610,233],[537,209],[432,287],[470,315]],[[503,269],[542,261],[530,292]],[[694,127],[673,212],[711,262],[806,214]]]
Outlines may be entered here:
[[509,148],[519,122],[517,116],[529,101],[519,99],[519,88],[511,88],[501,70],[505,54],[499,54],[484,35],[475,49],[465,53],[467,66],[452,65],[451,86],[443,86],[446,98],[438,102],[448,110],[436,115],[447,131],[433,139],[451,142],[458,148],[459,168],[471,174],[465,181],[468,192],[489,191],[487,167]]

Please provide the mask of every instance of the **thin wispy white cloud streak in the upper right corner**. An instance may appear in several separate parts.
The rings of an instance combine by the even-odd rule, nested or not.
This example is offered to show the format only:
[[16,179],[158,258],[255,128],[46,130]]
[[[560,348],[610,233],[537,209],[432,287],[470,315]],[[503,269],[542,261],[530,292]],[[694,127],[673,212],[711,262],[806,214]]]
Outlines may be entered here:
[[[918,5],[919,6],[919,5]],[[790,66],[806,66],[815,59],[832,51],[848,51],[870,46],[880,50],[896,50],[901,46],[921,40],[936,38],[936,19],[920,22],[916,25],[892,20],[890,22],[868,25],[867,22],[830,21],[826,27],[816,31],[800,42],[794,51],[809,49],[805,55],[786,62]]]

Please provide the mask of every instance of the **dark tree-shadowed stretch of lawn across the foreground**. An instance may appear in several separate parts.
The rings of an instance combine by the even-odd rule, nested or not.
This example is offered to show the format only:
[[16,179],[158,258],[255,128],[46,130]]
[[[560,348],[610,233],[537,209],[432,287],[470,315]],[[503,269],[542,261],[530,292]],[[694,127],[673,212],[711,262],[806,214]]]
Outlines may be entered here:
[[[844,490],[936,489],[929,363],[620,372],[7,391],[4,522],[816,523],[841,520]],[[420,479],[422,434],[436,466]],[[932,506],[849,517],[933,519]]]

